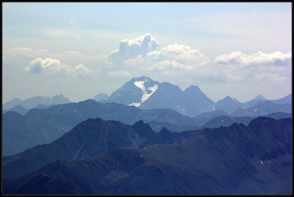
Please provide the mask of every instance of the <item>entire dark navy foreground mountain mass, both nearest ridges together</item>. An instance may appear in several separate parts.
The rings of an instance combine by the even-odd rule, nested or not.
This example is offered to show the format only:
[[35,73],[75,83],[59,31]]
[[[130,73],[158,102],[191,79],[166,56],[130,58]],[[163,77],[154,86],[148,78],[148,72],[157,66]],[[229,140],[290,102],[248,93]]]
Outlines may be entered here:
[[292,118],[181,133],[88,119],[49,145],[4,157],[3,194],[289,195],[291,153]]

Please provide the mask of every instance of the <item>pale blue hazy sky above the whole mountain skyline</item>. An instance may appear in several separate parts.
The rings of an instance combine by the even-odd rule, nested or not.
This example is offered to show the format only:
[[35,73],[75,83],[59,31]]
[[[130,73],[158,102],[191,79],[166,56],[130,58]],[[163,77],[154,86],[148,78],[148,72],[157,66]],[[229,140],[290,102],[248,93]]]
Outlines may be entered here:
[[[26,99],[60,93],[71,101],[82,101],[100,92],[110,95],[141,74],[181,89],[198,85],[213,101],[227,95],[247,101],[257,94],[275,99],[292,91],[291,3],[3,3],[2,6],[3,102],[15,97]],[[120,57],[125,62],[109,60],[108,55],[118,49],[121,40],[128,39],[130,44],[146,34],[158,43],[149,51],[153,52],[149,55],[156,55],[157,62],[145,57],[146,51],[136,53],[142,57]],[[173,47],[167,49],[169,45]],[[133,49],[126,50],[129,53]],[[167,50],[179,54],[171,57],[162,52],[159,58],[155,53]],[[195,50],[201,57],[195,55]],[[185,61],[179,60],[183,56]],[[231,60],[224,63],[220,57]],[[50,58],[55,63],[48,66],[36,61],[43,67],[39,67],[40,72],[32,73],[29,68],[37,58]],[[233,63],[232,58],[236,60]],[[136,68],[131,69],[130,62]],[[32,66],[25,71],[29,64]],[[81,71],[82,74],[77,74]],[[254,90],[250,90],[252,86]],[[79,87],[84,87],[84,92],[77,93]]]

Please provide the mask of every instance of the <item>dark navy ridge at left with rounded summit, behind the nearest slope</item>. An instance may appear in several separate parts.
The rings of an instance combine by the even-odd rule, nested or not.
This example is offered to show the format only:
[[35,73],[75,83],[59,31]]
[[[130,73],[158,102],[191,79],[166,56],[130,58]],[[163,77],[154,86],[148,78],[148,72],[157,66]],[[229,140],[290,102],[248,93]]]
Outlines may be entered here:
[[88,119],[51,144],[3,157],[3,178],[21,176],[58,159],[85,159],[120,147],[138,147],[149,135],[155,132],[142,120],[130,126],[114,120]]

